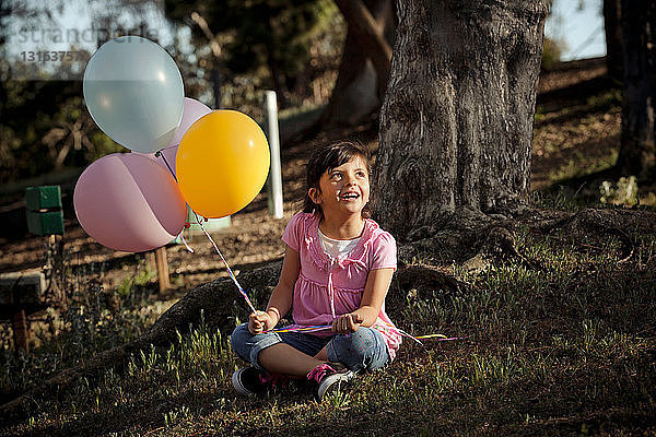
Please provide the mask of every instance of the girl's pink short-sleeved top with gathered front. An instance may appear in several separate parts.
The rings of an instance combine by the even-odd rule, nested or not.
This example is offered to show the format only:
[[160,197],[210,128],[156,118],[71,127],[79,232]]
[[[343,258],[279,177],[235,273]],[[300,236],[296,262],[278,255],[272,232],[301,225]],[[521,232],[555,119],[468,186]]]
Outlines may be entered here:
[[[332,258],[319,241],[320,216],[298,213],[288,224],[282,240],[298,252],[301,269],[294,285],[292,316],[296,327],[330,324],[336,316],[349,314],[362,300],[371,270],[397,267],[396,241],[391,234],[366,220],[358,245],[343,259]],[[401,335],[385,312],[385,303],[372,328],[383,334],[389,358],[394,359]],[[331,335],[331,333],[316,333]]]

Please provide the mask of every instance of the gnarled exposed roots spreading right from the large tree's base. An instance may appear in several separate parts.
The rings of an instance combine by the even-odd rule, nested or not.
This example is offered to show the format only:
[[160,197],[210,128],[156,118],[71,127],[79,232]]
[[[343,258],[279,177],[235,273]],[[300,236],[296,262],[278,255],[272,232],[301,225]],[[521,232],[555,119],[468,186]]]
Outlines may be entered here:
[[[509,215],[509,214],[508,214]],[[515,244],[520,228],[558,237],[590,249],[589,241],[617,237],[621,241],[617,262],[626,262],[635,252],[631,235],[656,234],[656,212],[647,210],[595,209],[577,213],[526,209],[520,215],[482,215],[458,211],[436,220],[435,225],[414,229],[408,244],[399,248],[401,258],[417,259],[425,253],[438,263],[458,263],[472,270],[485,268],[490,258],[515,258],[531,269],[543,269],[523,255]]]

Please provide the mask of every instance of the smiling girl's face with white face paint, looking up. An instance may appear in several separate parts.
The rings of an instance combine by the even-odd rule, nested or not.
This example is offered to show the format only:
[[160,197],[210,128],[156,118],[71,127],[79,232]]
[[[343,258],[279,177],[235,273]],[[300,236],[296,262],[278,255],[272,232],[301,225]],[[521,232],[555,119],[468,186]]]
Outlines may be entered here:
[[319,189],[311,188],[309,198],[321,205],[324,215],[360,214],[370,199],[366,162],[355,156],[339,167],[325,172]]

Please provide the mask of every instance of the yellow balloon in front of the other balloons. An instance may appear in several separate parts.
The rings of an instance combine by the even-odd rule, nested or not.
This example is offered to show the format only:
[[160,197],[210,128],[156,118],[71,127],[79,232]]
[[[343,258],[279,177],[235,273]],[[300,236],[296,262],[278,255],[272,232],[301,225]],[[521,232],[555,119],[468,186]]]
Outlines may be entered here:
[[185,132],[175,166],[189,206],[208,218],[234,214],[258,194],[269,174],[265,132],[247,115],[214,110]]

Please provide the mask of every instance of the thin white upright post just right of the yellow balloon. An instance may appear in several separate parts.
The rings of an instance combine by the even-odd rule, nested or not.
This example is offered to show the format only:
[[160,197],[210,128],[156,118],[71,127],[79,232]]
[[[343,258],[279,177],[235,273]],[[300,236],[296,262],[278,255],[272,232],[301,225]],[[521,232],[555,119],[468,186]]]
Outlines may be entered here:
[[276,92],[265,91],[265,113],[267,114],[267,137],[271,150],[269,172],[269,214],[282,218],[282,172],[280,170],[280,137],[278,134],[278,103]]

